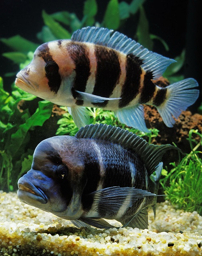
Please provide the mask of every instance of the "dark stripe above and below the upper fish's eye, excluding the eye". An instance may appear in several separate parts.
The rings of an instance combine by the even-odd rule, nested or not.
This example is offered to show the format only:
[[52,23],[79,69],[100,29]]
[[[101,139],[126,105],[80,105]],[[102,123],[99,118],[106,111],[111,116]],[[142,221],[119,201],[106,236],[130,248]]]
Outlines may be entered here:
[[[50,61],[55,62],[53,59],[53,56],[50,53],[48,43],[42,44],[40,47],[38,47],[38,51],[40,52],[38,54],[38,57],[42,57],[44,59],[44,61],[46,62],[46,64]],[[46,77],[48,78],[48,86],[50,88],[50,91],[57,93],[57,91],[59,90],[59,87],[61,85],[61,76],[59,74],[59,68],[58,68],[58,71],[56,73],[54,73],[53,75],[46,74]]]

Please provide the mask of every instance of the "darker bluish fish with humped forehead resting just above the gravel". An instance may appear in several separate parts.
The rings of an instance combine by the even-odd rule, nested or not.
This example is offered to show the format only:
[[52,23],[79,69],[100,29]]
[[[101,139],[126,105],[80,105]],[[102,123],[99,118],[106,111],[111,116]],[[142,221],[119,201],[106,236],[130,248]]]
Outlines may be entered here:
[[38,144],[17,195],[78,227],[112,227],[105,218],[144,229],[147,207],[155,214],[161,159],[170,149],[176,147],[148,144],[120,127],[86,125],[74,137]]

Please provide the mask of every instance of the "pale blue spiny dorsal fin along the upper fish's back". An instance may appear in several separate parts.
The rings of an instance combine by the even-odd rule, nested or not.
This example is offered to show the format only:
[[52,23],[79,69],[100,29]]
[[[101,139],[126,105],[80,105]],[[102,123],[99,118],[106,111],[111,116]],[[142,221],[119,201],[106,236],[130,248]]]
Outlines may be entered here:
[[113,32],[114,30],[108,30],[107,28],[87,27],[75,31],[71,39],[103,45],[121,51],[124,54],[132,53],[143,61],[141,67],[145,71],[152,72],[153,79],[158,79],[162,76],[166,68],[175,62],[173,59],[168,59],[147,50],[141,44],[135,42],[135,40],[124,36],[124,34]]

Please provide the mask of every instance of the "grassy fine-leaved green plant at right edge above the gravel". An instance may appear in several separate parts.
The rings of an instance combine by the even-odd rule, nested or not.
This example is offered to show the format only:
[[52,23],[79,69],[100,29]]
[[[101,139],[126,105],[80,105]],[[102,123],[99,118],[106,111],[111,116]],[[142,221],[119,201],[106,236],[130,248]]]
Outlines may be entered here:
[[[198,135],[200,142],[192,139],[192,135]],[[160,183],[164,188],[166,199],[177,209],[184,209],[187,212],[197,211],[202,215],[202,134],[197,130],[189,131],[189,143],[191,152],[181,162],[170,163],[173,169],[166,174]],[[193,143],[196,146],[193,147]]]

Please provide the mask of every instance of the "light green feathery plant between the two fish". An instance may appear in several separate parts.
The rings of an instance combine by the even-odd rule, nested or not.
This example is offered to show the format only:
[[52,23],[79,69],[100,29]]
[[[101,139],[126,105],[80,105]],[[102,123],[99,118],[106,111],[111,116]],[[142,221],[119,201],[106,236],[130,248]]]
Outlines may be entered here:
[[[57,129],[56,135],[71,135],[74,136],[78,132],[78,127],[75,125],[71,114],[69,114],[66,107],[61,107],[65,110],[63,117],[59,119],[57,124],[59,128]],[[118,121],[118,118],[115,117],[114,112],[109,110],[103,110],[101,108],[87,108],[90,115],[90,123],[103,123],[107,125],[116,125],[128,131],[132,131],[136,133],[140,137],[146,137],[147,141],[151,143],[151,138],[156,138],[158,136],[158,129],[149,129],[150,132],[145,133],[143,131],[139,131],[135,128],[126,127],[124,124]]]

